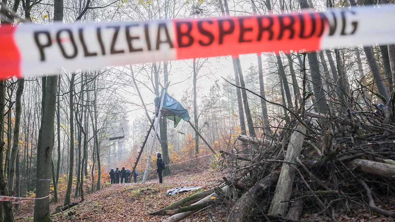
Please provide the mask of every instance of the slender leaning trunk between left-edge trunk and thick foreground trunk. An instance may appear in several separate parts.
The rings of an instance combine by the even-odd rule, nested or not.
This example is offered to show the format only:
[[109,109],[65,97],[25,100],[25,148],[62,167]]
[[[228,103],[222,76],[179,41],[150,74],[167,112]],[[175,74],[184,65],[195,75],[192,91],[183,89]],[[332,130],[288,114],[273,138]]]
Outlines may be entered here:
[[24,79],[19,79],[17,96],[15,100],[15,124],[14,124],[13,142],[12,142],[12,150],[11,150],[11,161],[9,164],[9,173],[8,173],[8,190],[13,190],[15,162],[17,159],[17,153],[19,152],[19,126],[21,125],[21,113],[22,113],[21,97],[23,93],[23,87],[24,87]]

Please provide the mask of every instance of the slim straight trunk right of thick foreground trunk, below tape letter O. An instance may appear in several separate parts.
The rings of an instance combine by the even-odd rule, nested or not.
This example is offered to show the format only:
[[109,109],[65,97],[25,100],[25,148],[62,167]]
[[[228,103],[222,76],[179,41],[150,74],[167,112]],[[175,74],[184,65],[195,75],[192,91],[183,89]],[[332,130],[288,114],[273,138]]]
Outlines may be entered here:
[[70,92],[69,92],[69,103],[70,103],[70,162],[69,162],[69,175],[67,182],[66,195],[64,197],[63,205],[66,206],[70,203],[71,189],[73,187],[73,172],[74,172],[74,79],[75,73],[71,74],[70,79]]

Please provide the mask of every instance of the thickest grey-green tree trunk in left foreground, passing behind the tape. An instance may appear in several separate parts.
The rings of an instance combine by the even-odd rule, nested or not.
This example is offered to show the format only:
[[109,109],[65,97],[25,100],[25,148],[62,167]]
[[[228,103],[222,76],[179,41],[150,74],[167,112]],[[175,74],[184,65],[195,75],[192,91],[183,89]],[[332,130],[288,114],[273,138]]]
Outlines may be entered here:
[[[55,1],[56,4],[56,1]],[[56,5],[55,5],[56,8]],[[43,98],[43,118],[37,144],[37,179],[36,197],[41,198],[49,195],[51,183],[52,149],[55,142],[55,110],[56,110],[56,86],[58,76],[47,77],[45,97]],[[37,199],[34,205],[34,222],[51,221],[49,214],[49,198]]]

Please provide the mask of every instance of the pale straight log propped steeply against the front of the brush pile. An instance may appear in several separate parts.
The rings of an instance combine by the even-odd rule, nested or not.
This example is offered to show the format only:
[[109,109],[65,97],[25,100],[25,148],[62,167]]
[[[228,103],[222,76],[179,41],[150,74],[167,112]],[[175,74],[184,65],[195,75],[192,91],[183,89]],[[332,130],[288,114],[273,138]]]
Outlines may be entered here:
[[[304,126],[299,125],[296,127],[296,131],[292,133],[290,142],[288,143],[288,149],[284,159],[285,161],[295,162],[296,158],[299,157],[305,133],[306,128]],[[276,192],[273,196],[268,214],[285,216],[288,209],[288,201],[291,197],[294,178],[294,169],[290,167],[289,164],[283,163],[280,177],[278,177]]]

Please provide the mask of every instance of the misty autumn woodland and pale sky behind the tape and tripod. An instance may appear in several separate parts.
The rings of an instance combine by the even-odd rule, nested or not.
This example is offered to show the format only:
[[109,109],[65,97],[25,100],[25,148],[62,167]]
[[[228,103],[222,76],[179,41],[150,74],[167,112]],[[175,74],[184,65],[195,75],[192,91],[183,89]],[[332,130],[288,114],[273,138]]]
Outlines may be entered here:
[[[3,24],[228,17],[378,4],[369,0],[351,0],[351,4],[322,0],[3,0],[2,3],[17,15],[2,7]],[[388,101],[392,103],[386,104],[388,115],[382,130],[393,129],[393,78],[393,45],[197,58],[75,73],[61,70],[60,75],[49,77],[11,78],[0,83],[3,120],[0,194],[21,197],[53,194],[51,201],[68,205],[70,198],[84,199],[84,194],[108,184],[110,168],[132,169],[154,118],[154,97],[159,96],[160,83],[164,85],[168,80],[169,93],[189,110],[196,128],[219,151],[231,149],[240,134],[276,140],[282,128],[295,126],[295,121],[306,118],[314,122],[309,122],[309,134],[321,135],[329,127],[333,138],[336,130],[326,126],[322,117],[374,113],[378,103]],[[154,151],[162,152],[165,164],[210,153],[189,125],[181,121],[174,128],[172,124],[162,117],[160,133],[151,134],[147,142],[160,141]],[[124,138],[109,140],[119,136]],[[237,144],[239,150],[249,148],[246,142]],[[252,149],[260,148],[252,144]],[[143,152],[137,171],[144,169],[148,152],[148,149]],[[154,161],[150,169],[156,167]],[[193,167],[193,163],[188,164]],[[165,176],[169,174],[171,167],[164,171]],[[14,221],[11,202],[1,204],[0,221]],[[34,221],[50,220],[49,201],[36,201]]]

